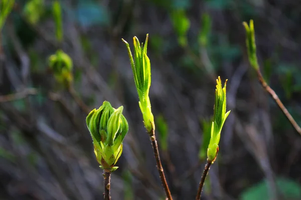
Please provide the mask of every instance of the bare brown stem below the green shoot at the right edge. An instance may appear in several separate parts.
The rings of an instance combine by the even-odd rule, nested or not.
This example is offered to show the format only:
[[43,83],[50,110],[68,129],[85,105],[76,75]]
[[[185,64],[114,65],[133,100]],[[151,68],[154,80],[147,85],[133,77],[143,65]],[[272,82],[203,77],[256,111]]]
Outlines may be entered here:
[[262,87],[275,100],[275,102],[277,103],[278,107],[282,110],[283,114],[287,117],[287,119],[290,121],[290,123],[292,124],[292,126],[295,128],[295,130],[299,134],[301,134],[301,128],[300,128],[300,126],[297,124],[297,122],[290,115],[290,113],[288,112],[288,110],[286,109],[286,107],[283,105],[283,103],[281,102],[281,100],[277,96],[276,92],[265,82],[265,80],[262,77],[262,74],[261,74],[259,68],[257,69],[257,77],[258,77],[258,80],[261,83]]

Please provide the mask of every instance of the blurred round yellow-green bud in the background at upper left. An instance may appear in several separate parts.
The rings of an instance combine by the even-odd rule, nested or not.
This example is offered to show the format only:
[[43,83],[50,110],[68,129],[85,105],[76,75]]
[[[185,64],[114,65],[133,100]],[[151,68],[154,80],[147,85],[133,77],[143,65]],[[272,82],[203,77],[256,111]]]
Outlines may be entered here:
[[49,66],[58,82],[67,87],[71,84],[73,63],[68,54],[63,50],[57,50],[55,54],[49,57]]

